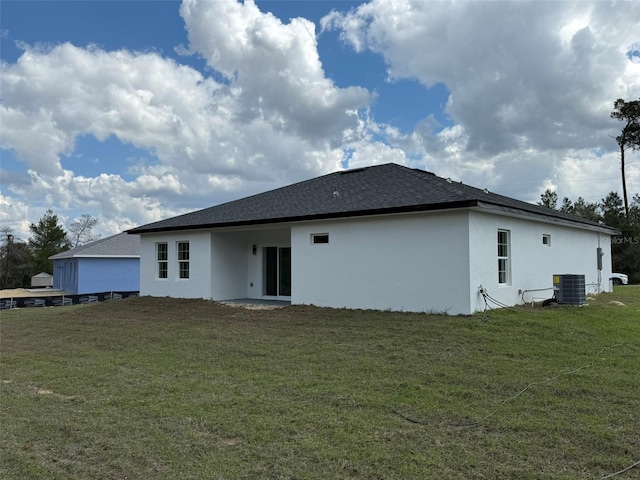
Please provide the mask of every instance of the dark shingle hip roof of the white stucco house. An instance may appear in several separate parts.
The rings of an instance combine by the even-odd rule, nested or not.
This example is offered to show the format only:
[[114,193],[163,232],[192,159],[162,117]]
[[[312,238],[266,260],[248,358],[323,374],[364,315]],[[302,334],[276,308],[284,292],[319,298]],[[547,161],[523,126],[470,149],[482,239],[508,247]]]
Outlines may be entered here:
[[581,217],[393,163],[345,170],[129,230],[161,232],[467,208],[482,204],[602,227]]

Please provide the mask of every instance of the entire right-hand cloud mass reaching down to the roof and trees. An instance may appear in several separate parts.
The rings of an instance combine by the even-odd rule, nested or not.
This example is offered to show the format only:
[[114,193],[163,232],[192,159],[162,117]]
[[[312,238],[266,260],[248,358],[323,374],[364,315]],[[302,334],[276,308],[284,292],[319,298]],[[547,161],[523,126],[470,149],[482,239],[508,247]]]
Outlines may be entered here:
[[[446,85],[452,127],[436,132],[426,120],[412,135],[387,137],[436,173],[535,200],[548,178],[584,196],[586,177],[602,169],[619,190],[615,155],[591,152],[616,150],[613,101],[640,96],[629,54],[638,2],[373,0],[321,25],[356,52],[380,54],[390,81]],[[640,167],[629,170],[633,179]]]

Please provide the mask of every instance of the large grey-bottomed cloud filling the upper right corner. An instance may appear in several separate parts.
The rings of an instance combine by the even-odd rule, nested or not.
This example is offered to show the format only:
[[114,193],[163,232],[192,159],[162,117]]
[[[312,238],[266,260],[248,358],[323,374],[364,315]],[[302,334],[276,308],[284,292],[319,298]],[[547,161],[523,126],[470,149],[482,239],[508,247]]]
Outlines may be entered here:
[[445,83],[469,148],[493,154],[605,141],[613,100],[638,94],[615,90],[638,81],[626,51],[639,18],[635,2],[374,0],[323,26],[380,53],[391,79]]

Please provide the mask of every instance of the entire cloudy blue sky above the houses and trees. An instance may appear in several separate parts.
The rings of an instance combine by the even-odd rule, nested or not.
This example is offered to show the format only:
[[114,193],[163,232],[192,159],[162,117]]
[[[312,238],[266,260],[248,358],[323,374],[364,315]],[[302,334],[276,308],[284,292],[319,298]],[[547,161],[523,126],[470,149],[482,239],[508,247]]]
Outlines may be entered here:
[[[3,1],[0,13],[0,225],[24,239],[47,208],[109,235],[386,162],[526,201],[547,187],[598,201],[620,191],[613,101],[640,97],[637,2]],[[627,180],[640,191],[640,160]]]

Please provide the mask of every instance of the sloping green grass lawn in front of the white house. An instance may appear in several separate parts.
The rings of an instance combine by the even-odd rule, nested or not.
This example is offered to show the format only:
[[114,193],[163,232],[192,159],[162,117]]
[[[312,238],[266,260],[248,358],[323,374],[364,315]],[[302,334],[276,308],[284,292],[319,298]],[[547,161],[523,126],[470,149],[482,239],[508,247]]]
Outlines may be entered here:
[[640,287],[589,303],[3,311],[0,478],[638,478]]

